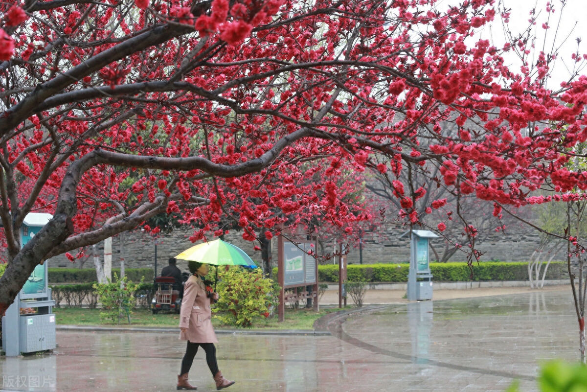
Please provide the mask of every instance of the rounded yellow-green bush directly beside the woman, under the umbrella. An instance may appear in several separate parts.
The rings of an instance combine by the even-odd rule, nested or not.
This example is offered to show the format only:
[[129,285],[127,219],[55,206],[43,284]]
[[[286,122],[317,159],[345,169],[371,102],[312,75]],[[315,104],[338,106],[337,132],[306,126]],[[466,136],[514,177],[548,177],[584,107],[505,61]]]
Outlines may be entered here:
[[263,278],[260,268],[231,267],[218,269],[217,290],[220,299],[214,316],[226,325],[250,327],[258,317],[269,317],[278,305],[279,291],[271,279]]

